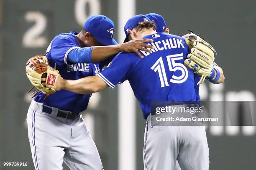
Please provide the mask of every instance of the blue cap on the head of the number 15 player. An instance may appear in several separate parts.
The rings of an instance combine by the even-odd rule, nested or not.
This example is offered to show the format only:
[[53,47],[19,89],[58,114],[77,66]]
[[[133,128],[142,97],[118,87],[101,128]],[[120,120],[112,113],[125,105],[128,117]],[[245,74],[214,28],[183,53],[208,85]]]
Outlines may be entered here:
[[124,42],[128,42],[128,35],[130,34],[128,32],[128,30],[132,30],[133,28],[135,28],[139,22],[145,22],[145,21],[148,21],[151,23],[151,20],[149,18],[147,18],[145,15],[135,15],[133,16],[132,18],[130,18],[126,24],[125,24],[125,27],[124,27],[124,31],[125,31],[125,35],[126,35],[126,38],[124,40]]

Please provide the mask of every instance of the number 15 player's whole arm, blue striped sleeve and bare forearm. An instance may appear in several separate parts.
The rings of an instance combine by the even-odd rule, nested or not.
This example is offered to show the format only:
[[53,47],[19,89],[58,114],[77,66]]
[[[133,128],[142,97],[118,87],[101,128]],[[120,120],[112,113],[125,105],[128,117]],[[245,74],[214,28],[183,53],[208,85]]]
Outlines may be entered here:
[[[134,54],[120,53],[112,61],[112,65],[95,76],[84,77],[79,80],[64,80],[58,77],[55,81],[54,89],[68,90],[80,94],[90,94],[105,89],[114,88],[118,82],[128,79],[133,72],[136,61],[141,60]],[[45,86],[46,78],[41,78],[42,85]]]

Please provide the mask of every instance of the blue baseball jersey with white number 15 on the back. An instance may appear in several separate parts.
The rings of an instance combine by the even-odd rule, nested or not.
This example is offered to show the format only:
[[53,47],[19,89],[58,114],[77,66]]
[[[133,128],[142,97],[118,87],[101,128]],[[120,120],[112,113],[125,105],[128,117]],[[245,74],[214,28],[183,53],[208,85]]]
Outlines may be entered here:
[[146,119],[153,101],[197,101],[197,79],[184,64],[189,49],[183,37],[165,33],[147,35],[154,39],[153,52],[119,53],[111,64],[97,75],[109,87],[128,80]]

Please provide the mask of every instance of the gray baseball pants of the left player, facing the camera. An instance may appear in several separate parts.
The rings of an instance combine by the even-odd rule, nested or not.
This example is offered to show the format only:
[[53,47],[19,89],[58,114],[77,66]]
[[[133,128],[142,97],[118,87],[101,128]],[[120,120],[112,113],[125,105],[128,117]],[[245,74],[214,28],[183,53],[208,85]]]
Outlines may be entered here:
[[36,170],[103,170],[100,155],[82,115],[74,120],[42,112],[32,101],[27,114],[28,139]]

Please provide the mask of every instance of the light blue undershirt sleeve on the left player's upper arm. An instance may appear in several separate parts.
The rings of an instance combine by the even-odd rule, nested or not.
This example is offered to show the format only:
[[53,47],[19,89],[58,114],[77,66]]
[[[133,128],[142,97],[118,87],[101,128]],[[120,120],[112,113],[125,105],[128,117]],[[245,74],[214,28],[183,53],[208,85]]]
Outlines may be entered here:
[[67,55],[67,64],[92,62],[92,48],[83,47],[72,49]]

